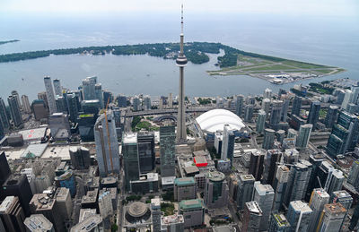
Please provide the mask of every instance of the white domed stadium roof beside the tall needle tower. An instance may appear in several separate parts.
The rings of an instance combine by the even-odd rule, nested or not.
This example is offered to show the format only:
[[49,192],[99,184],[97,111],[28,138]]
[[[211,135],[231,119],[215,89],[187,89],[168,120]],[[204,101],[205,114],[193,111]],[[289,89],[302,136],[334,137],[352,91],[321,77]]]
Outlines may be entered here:
[[198,116],[196,121],[203,131],[215,133],[216,131],[223,131],[224,125],[230,125],[234,130],[241,130],[245,127],[241,117],[233,114],[226,109],[212,109],[206,113]]

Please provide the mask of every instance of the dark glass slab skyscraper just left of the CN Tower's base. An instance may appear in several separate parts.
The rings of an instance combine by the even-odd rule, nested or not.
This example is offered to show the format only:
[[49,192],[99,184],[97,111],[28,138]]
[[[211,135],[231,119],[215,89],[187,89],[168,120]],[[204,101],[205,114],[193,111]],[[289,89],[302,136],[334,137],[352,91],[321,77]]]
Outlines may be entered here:
[[161,176],[176,176],[174,126],[160,127]]

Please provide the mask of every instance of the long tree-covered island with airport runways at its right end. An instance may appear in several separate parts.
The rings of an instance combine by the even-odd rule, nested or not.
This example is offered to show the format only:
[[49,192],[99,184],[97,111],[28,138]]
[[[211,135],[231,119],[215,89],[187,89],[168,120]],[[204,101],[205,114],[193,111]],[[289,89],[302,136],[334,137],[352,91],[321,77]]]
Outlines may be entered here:
[[[31,51],[0,55],[0,63],[35,59],[50,55],[148,55],[164,59],[176,59],[180,45],[178,43],[155,43],[122,46],[77,47],[43,51]],[[188,42],[184,45],[184,53],[193,64],[204,64],[209,61],[207,54],[219,54],[217,61],[221,69],[207,71],[210,75],[250,75],[276,84],[296,82],[302,79],[316,78],[325,75],[341,73],[345,70],[338,67],[321,64],[311,64],[300,61],[266,56],[245,52],[221,43]]]

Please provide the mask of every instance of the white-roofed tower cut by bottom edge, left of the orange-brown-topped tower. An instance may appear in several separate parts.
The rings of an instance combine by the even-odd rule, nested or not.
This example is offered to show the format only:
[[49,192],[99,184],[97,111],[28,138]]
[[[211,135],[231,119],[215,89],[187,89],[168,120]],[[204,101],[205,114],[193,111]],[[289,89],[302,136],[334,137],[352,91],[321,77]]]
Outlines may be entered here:
[[308,230],[309,224],[311,222],[311,214],[311,208],[306,202],[290,202],[288,211],[286,213],[286,219],[291,225],[290,231],[311,231]]

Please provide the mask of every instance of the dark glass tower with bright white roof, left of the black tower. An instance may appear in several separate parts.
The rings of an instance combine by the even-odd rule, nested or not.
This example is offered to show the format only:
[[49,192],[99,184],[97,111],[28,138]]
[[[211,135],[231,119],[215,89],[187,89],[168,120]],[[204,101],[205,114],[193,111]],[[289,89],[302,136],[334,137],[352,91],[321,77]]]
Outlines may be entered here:
[[122,139],[122,153],[127,191],[131,191],[130,182],[140,177],[138,160],[137,133],[125,133]]

